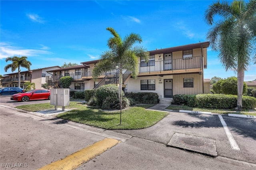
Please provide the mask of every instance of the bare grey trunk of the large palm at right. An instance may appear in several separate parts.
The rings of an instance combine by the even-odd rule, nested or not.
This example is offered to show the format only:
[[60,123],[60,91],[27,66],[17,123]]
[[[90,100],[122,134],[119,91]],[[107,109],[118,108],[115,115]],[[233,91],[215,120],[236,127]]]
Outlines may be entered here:
[[238,66],[237,70],[237,110],[242,110],[242,97],[244,86],[244,69]]

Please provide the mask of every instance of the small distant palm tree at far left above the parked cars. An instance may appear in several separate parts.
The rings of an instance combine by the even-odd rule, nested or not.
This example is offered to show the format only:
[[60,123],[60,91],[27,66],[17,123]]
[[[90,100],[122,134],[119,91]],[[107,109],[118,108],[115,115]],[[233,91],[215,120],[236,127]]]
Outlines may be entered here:
[[20,87],[20,67],[24,67],[28,70],[30,70],[30,61],[27,60],[28,57],[22,56],[22,57],[7,57],[5,61],[12,61],[11,64],[8,64],[4,67],[4,71],[6,72],[8,69],[12,69],[12,72],[14,72],[16,69],[18,69],[18,87]]

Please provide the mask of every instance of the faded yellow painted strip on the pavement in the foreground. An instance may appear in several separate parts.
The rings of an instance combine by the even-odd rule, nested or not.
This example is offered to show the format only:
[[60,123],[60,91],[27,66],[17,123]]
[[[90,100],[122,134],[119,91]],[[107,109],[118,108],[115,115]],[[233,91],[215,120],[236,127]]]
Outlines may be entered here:
[[74,170],[118,143],[120,143],[119,140],[105,138],[86,148],[83,148],[82,150],[79,150],[74,154],[67,156],[64,159],[52,162],[39,170]]

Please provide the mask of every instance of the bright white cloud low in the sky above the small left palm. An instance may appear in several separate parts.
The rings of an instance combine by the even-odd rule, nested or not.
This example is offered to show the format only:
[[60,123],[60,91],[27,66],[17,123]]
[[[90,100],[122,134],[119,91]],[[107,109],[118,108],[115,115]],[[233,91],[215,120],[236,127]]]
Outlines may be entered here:
[[38,56],[40,54],[49,54],[51,52],[46,49],[23,49],[22,47],[14,46],[11,43],[1,42],[0,43],[0,59],[13,56]]

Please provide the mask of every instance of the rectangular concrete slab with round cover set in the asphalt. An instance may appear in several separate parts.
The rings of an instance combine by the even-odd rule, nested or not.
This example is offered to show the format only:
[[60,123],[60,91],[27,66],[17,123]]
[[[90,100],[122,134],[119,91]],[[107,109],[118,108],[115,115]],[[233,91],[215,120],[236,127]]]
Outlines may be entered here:
[[216,157],[215,140],[188,134],[175,133],[167,146]]

